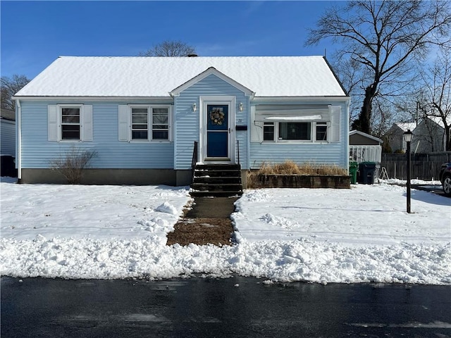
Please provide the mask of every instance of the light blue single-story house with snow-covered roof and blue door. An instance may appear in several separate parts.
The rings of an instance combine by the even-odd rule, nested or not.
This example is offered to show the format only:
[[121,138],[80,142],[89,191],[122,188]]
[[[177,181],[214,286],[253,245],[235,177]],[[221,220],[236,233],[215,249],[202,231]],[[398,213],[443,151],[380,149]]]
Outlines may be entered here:
[[[185,185],[200,163],[348,168],[350,96],[322,56],[60,57],[14,96],[20,182],[96,151],[85,183]],[[239,143],[238,143],[239,142]]]

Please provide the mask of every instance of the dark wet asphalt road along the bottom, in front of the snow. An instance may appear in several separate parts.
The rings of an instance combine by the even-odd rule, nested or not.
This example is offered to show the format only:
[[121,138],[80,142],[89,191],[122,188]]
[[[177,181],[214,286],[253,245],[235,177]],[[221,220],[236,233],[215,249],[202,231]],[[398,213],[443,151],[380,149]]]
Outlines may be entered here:
[[1,337],[451,337],[451,287],[1,278]]

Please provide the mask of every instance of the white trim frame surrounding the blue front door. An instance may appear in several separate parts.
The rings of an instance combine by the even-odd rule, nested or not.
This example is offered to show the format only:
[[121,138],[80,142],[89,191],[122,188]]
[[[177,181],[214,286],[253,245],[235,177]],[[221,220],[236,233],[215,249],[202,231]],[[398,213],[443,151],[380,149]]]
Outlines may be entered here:
[[[218,161],[208,161],[208,163],[235,163],[235,115],[236,115],[236,96],[227,95],[202,95],[199,96],[199,161],[205,163],[206,158],[206,108],[209,104],[228,105],[228,149],[229,158],[218,159]],[[214,159],[212,159],[214,160]]]

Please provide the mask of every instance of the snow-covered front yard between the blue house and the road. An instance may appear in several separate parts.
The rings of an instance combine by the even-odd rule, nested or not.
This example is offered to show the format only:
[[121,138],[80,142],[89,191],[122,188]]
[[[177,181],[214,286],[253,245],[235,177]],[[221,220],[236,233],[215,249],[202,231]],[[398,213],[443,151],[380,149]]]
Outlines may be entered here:
[[[437,182],[435,182],[437,183]],[[405,187],[247,190],[237,244],[166,246],[187,187],[14,184],[2,177],[1,275],[451,284],[451,199]]]

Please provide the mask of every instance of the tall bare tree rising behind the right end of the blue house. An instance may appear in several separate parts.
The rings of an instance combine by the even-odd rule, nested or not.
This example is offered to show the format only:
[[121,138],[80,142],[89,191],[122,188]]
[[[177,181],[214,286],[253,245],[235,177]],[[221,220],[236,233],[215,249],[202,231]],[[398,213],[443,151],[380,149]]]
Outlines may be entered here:
[[384,87],[399,93],[411,65],[424,58],[431,45],[449,43],[450,30],[447,1],[357,0],[328,8],[306,44],[331,38],[342,44],[338,54],[362,65],[363,102],[353,128],[371,133],[373,100],[386,94]]

